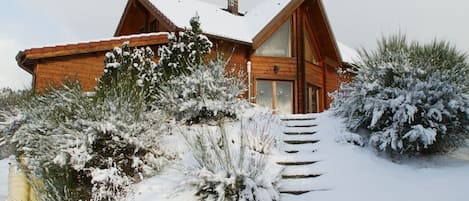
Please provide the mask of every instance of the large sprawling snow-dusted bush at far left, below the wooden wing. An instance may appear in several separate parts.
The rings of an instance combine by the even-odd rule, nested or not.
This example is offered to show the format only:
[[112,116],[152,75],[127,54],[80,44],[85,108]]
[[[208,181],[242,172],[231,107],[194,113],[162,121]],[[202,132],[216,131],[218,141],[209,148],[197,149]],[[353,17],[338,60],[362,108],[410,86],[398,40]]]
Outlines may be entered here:
[[[0,129],[24,156],[42,200],[99,198],[104,195],[93,193],[103,189],[121,193],[127,183],[105,182],[136,182],[174,159],[159,143],[166,133],[164,116],[148,111],[142,88],[128,83],[105,87],[102,96],[83,93],[79,84],[65,85],[3,113]],[[97,180],[96,171],[114,173],[110,180]]]

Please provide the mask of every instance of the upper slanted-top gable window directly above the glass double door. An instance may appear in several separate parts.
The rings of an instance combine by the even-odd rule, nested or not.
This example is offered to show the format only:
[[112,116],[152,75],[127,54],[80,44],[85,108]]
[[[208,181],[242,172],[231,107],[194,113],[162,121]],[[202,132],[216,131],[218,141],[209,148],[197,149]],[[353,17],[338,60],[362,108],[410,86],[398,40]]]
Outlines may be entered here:
[[291,22],[288,20],[256,50],[257,56],[291,57]]

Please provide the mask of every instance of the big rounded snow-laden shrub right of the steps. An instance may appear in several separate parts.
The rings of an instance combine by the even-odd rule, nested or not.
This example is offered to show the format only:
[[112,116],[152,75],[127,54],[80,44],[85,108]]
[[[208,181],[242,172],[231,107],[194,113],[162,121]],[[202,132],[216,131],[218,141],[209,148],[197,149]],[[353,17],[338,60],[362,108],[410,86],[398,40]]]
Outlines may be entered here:
[[348,128],[370,131],[370,143],[397,153],[450,151],[469,137],[469,67],[448,43],[383,39],[362,51],[356,76],[334,95]]

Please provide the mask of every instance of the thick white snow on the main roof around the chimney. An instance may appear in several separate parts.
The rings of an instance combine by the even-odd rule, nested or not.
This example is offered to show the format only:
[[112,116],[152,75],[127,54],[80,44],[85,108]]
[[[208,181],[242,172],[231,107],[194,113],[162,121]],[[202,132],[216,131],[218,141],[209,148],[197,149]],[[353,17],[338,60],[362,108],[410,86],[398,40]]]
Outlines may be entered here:
[[239,1],[244,16],[233,15],[226,9],[226,0],[149,0],[177,27],[189,27],[189,21],[199,15],[206,34],[252,43],[253,38],[291,0]]

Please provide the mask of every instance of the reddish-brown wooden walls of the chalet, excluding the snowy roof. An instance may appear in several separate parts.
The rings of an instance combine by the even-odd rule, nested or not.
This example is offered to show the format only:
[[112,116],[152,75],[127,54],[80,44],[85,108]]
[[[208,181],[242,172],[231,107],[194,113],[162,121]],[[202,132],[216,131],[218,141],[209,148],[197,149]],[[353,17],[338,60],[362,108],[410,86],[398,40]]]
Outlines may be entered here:
[[[36,90],[59,83],[65,77],[78,78],[85,90],[93,90],[101,75],[106,51],[126,40],[133,46],[156,48],[167,42],[167,35],[145,33],[181,30],[160,12],[158,5],[148,0],[129,0],[115,32],[116,38],[29,49],[20,52],[17,60],[23,69],[33,74]],[[288,33],[286,55],[261,54],[264,44],[275,41],[271,38],[283,36],[278,34],[280,31]],[[331,100],[327,93],[338,88],[336,71],[342,61],[320,0],[291,0],[252,42],[207,35],[214,43],[212,56],[217,52],[231,56],[228,66],[244,72],[248,71],[248,63],[251,64],[252,102],[271,104],[276,109],[281,107],[283,113],[320,112],[329,107]],[[120,38],[122,36],[126,37]]]

